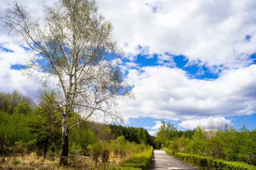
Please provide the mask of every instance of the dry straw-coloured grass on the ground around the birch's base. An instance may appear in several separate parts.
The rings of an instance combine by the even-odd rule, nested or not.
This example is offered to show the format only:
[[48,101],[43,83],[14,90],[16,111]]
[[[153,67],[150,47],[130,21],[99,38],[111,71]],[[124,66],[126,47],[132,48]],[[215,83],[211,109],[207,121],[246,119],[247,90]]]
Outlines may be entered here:
[[92,159],[69,156],[69,165],[59,166],[59,155],[48,156],[44,159],[36,153],[30,153],[24,156],[0,157],[0,170],[104,170],[106,166],[118,165],[130,156],[131,155],[127,155],[125,158],[120,158],[118,155],[110,153],[109,163],[103,164],[101,160],[99,160],[97,166],[95,166]]

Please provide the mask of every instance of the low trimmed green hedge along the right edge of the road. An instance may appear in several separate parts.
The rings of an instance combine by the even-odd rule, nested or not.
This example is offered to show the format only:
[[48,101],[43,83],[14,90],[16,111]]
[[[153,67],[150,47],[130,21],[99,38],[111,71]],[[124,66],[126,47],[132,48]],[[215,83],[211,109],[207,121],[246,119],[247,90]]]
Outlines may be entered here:
[[214,160],[211,157],[179,153],[167,148],[162,149],[164,149],[166,153],[177,157],[181,161],[188,162],[201,170],[256,170],[256,166],[248,165],[243,162]]

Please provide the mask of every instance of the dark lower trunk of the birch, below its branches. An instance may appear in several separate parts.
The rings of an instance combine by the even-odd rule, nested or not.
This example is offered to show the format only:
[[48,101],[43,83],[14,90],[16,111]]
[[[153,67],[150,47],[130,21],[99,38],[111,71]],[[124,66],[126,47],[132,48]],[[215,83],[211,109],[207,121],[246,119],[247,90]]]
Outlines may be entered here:
[[62,118],[62,147],[59,164],[68,165],[68,114]]

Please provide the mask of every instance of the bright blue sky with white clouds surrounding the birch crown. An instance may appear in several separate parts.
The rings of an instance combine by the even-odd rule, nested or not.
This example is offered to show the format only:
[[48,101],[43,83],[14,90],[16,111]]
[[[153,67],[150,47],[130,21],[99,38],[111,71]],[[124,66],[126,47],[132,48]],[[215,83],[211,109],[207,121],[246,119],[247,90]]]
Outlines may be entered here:
[[[0,15],[11,2],[0,1]],[[43,16],[43,6],[55,1],[18,2]],[[186,130],[207,126],[212,116],[216,127],[221,120],[256,128],[255,0],[97,2],[114,25],[112,35],[125,52],[120,68],[136,96],[119,104],[125,125],[153,135],[161,120]],[[20,72],[31,53],[17,37],[0,32],[0,91],[36,97],[38,80]]]

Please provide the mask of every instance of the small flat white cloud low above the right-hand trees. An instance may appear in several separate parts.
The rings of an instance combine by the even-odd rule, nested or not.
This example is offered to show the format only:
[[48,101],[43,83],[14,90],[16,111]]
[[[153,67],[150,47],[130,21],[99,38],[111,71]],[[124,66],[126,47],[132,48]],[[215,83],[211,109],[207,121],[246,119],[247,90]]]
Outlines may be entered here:
[[178,125],[186,129],[194,129],[197,126],[206,127],[206,129],[209,129],[209,123],[212,125],[213,129],[217,129],[218,127],[223,127],[225,124],[230,125],[231,121],[229,119],[225,119],[224,117],[209,117],[205,119],[182,121],[181,123],[178,123]]

